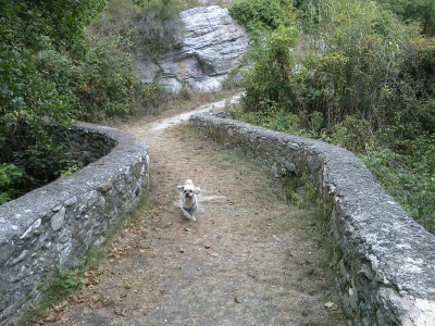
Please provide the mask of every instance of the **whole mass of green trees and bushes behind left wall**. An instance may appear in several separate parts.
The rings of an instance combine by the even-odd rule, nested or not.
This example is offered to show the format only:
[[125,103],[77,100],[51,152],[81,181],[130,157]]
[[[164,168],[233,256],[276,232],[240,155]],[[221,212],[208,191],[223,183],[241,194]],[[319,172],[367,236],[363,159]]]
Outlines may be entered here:
[[85,38],[107,2],[0,3],[0,164],[23,171],[2,186],[11,198],[80,167],[62,136],[53,137],[73,118],[124,117],[161,97],[134,75],[127,35]]

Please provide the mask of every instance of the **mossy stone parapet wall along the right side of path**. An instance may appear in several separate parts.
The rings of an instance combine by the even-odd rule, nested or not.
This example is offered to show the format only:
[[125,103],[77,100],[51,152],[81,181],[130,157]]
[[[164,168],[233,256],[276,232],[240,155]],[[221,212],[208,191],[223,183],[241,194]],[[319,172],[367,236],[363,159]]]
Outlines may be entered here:
[[275,175],[308,176],[331,225],[333,269],[349,325],[435,325],[435,237],[341,148],[207,115],[192,128],[241,148]]

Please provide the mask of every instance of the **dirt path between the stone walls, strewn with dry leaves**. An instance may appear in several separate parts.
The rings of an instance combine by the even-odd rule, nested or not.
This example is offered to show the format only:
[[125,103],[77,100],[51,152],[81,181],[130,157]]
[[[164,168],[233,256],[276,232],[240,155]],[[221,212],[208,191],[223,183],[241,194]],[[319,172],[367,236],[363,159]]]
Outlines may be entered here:
[[[161,123],[123,126],[150,147],[150,198],[46,323],[344,325],[336,305],[324,305],[335,298],[313,214],[284,202],[243,154],[186,123]],[[186,178],[201,187],[196,223],[177,208],[175,187]]]

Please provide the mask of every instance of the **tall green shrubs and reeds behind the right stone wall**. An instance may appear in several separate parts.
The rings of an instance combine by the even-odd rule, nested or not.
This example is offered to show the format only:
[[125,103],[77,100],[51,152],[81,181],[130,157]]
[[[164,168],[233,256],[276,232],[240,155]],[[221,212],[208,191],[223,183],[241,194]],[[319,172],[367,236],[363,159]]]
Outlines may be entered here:
[[[244,73],[245,112],[237,116],[361,155],[435,233],[435,40],[373,1],[295,7],[302,20],[295,26],[306,34],[284,25],[261,34]],[[284,33],[288,28],[294,32]]]

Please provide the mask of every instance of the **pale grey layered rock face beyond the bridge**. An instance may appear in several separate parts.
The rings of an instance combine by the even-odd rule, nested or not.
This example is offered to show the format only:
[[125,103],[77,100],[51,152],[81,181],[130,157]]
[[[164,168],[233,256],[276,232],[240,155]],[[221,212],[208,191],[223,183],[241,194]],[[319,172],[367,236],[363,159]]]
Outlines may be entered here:
[[179,16],[184,29],[175,50],[157,60],[137,54],[140,79],[175,92],[183,85],[202,91],[220,89],[228,73],[240,64],[249,46],[247,33],[227,9],[217,5],[194,8]]

